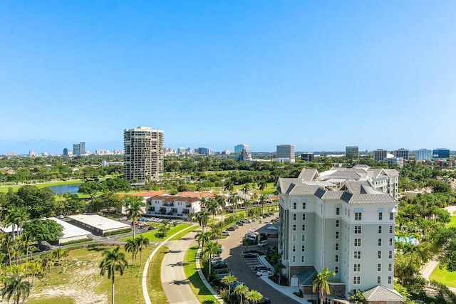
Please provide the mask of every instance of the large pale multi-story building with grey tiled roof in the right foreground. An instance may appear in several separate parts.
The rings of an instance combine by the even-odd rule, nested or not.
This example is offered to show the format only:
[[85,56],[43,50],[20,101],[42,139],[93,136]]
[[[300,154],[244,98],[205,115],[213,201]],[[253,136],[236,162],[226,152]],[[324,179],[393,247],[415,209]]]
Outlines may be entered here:
[[398,201],[378,184],[379,176],[388,172],[356,166],[322,174],[303,169],[295,179],[279,179],[278,247],[290,285],[311,293],[313,279],[327,266],[336,273],[331,295],[381,285],[401,299],[393,290]]

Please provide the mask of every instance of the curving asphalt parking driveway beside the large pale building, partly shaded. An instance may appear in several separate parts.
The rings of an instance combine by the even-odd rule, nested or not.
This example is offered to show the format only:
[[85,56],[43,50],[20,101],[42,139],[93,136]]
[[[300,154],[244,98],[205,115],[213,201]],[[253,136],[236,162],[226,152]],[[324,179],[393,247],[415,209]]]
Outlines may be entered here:
[[[276,216],[271,216],[266,220],[275,218]],[[247,258],[244,259],[242,256],[242,251],[245,250],[245,247],[242,246],[242,238],[250,229],[257,229],[262,224],[259,224],[258,221],[254,221],[250,224],[244,224],[244,226],[239,226],[239,229],[236,231],[229,231],[230,236],[227,239],[220,240],[219,243],[223,246],[223,258],[227,263],[229,270],[232,272],[233,276],[236,276],[238,281],[244,282],[249,288],[258,290],[261,295],[271,300],[271,303],[287,303],[294,304],[299,303],[296,300],[289,298],[289,296],[280,293],[278,290],[271,288],[270,285],[261,280],[254,271],[249,267],[254,264],[255,259]],[[274,245],[274,239],[270,239],[270,245]],[[261,248],[261,247],[257,247]],[[266,248],[264,248],[266,250]],[[296,288],[297,290],[297,288]]]

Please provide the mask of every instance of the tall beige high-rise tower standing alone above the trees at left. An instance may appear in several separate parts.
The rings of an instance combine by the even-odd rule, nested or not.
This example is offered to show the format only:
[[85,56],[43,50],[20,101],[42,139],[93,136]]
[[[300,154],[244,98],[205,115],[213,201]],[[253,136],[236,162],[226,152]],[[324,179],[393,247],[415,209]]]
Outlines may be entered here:
[[163,131],[151,127],[123,130],[124,178],[147,182],[163,174]]

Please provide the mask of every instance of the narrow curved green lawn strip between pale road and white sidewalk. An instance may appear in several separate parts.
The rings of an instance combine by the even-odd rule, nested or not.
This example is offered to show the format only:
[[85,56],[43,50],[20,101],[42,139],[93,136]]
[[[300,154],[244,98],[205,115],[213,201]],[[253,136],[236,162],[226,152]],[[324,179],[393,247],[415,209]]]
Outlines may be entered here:
[[184,272],[185,276],[189,279],[190,288],[192,288],[193,293],[197,296],[199,303],[218,303],[217,299],[210,293],[206,285],[202,283],[201,278],[196,266],[196,255],[198,251],[198,246],[192,246],[188,248],[184,257]]

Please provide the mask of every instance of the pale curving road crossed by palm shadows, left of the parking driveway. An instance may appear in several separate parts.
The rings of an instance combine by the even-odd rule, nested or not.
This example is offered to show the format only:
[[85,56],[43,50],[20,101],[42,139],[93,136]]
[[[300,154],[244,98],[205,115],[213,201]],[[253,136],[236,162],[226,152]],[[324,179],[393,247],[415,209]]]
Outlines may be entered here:
[[[171,304],[199,304],[197,297],[190,289],[190,281],[184,273],[184,255],[187,248],[197,243],[195,231],[184,238],[167,242],[169,249],[162,261],[162,286],[167,300]],[[153,270],[152,270],[153,271]]]

